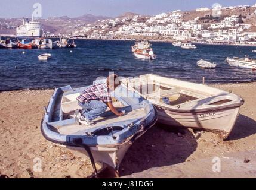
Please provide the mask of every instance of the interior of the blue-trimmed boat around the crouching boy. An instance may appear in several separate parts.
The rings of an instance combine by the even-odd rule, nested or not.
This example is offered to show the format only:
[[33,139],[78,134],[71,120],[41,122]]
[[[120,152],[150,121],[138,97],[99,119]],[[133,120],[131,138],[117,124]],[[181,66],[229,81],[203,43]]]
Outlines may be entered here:
[[[123,101],[123,99],[118,100],[113,98],[113,105],[119,111],[123,112],[124,116],[116,116],[108,108],[103,115],[94,120],[95,125],[76,124],[75,110],[81,109],[76,97],[79,96],[80,92],[81,90],[58,94],[58,102],[55,103],[53,116],[48,123],[53,131],[63,135],[113,135],[127,128],[130,124],[141,121],[149,112],[148,107],[143,106],[139,102],[129,105],[129,103],[127,104],[128,100]],[[108,127],[112,128],[112,130],[109,131]]]

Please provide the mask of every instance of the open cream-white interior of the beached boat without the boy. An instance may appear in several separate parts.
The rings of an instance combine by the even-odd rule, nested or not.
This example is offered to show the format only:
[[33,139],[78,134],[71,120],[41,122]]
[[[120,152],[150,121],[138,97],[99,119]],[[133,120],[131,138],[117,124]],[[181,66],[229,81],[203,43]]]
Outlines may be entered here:
[[129,89],[137,91],[156,105],[168,107],[189,109],[195,105],[214,106],[235,100],[232,94],[222,90],[175,79],[169,80],[168,83],[166,78],[154,75],[143,75],[135,80],[127,80],[123,85],[128,85]]

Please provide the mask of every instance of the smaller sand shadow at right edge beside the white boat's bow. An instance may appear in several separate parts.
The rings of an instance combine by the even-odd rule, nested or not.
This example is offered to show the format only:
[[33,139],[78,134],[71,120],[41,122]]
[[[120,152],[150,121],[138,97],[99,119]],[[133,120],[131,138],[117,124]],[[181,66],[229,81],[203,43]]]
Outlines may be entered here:
[[239,115],[227,141],[246,138],[253,134],[256,134],[256,121],[248,116]]

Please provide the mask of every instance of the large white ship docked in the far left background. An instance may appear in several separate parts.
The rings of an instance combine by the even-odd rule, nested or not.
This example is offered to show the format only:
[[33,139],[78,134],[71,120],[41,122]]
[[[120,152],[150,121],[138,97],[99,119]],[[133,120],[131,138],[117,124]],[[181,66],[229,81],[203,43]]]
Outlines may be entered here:
[[23,25],[18,26],[16,29],[16,37],[26,38],[26,37],[41,37],[42,36],[42,28],[41,23],[38,21],[34,21],[32,17],[32,21],[28,19],[23,19]]

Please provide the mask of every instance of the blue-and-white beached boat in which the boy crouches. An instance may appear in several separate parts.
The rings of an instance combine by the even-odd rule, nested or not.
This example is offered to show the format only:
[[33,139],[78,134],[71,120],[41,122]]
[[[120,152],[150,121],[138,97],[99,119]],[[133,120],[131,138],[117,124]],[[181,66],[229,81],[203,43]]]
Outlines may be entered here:
[[42,134],[76,155],[90,157],[92,166],[103,163],[118,171],[128,148],[155,124],[157,111],[149,101],[120,86],[113,94],[114,105],[124,116],[115,116],[108,110],[95,120],[95,125],[79,125],[75,110],[81,108],[76,97],[86,88],[67,86],[54,91],[42,121]]

